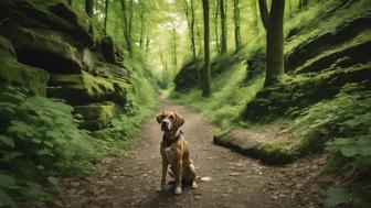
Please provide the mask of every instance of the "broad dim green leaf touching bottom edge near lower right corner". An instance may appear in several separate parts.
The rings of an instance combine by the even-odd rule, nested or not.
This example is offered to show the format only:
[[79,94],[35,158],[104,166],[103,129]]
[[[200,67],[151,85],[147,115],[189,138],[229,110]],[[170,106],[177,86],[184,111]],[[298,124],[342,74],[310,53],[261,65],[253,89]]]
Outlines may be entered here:
[[346,202],[350,198],[350,194],[343,188],[329,188],[326,191],[326,198],[324,200],[325,208],[332,208],[342,202]]

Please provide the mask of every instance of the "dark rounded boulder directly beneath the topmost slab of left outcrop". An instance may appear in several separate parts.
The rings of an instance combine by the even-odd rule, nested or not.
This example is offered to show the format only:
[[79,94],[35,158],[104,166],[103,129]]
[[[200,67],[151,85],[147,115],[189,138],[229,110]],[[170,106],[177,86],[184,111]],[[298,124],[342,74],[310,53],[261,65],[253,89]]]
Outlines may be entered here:
[[45,36],[45,32],[51,31],[23,29],[10,19],[0,24],[0,34],[12,42],[19,62],[51,73],[80,73],[76,48],[63,42],[59,33]]

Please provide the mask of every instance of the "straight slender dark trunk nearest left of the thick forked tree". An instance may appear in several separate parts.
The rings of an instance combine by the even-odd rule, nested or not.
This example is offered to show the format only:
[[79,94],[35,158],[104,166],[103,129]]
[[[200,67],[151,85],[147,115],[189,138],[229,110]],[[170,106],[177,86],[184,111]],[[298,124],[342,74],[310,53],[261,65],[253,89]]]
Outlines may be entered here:
[[210,26],[209,26],[209,0],[202,0],[204,25],[204,67],[202,72],[202,97],[211,96],[211,65],[210,65]]

